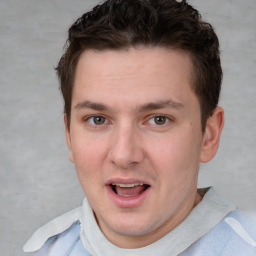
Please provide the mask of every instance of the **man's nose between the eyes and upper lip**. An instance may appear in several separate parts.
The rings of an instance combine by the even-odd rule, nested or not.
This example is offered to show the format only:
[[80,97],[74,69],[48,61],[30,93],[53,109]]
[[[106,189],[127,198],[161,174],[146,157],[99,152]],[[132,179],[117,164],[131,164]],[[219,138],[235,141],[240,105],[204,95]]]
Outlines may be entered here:
[[113,131],[110,161],[119,169],[128,170],[144,159],[139,131],[132,125],[120,126]]

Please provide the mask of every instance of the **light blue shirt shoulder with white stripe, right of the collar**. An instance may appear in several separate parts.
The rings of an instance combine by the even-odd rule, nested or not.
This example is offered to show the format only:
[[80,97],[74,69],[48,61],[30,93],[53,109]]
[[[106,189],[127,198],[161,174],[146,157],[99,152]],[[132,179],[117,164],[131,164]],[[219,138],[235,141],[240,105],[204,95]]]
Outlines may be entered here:
[[256,256],[256,216],[230,212],[189,248],[190,255],[204,255],[206,251],[209,256]]

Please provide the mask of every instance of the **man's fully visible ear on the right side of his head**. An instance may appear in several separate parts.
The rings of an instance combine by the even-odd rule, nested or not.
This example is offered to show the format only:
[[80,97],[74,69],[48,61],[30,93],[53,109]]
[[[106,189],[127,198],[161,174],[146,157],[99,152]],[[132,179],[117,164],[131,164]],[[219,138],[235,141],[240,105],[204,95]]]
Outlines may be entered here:
[[215,156],[219,147],[220,135],[223,126],[224,110],[221,107],[216,107],[213,115],[210,116],[206,122],[200,156],[201,163],[206,163]]

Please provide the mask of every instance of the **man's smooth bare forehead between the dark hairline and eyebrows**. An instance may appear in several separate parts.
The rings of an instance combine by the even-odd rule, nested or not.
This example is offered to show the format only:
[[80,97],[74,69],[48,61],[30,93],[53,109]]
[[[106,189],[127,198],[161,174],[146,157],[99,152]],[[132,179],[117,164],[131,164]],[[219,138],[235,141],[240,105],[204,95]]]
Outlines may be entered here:
[[143,104],[156,97],[168,100],[168,94],[178,102],[186,94],[194,94],[191,88],[192,61],[184,51],[160,47],[90,50],[78,61],[72,101],[127,96]]

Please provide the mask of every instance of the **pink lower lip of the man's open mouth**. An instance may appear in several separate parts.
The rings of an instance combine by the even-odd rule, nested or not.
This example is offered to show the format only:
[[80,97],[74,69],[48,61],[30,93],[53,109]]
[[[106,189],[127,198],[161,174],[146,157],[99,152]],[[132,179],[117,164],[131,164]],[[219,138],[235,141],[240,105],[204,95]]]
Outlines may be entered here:
[[112,200],[118,207],[121,208],[135,208],[142,205],[151,190],[151,187],[149,187],[136,196],[124,197],[117,195],[110,185],[106,186],[106,188],[110,200]]

